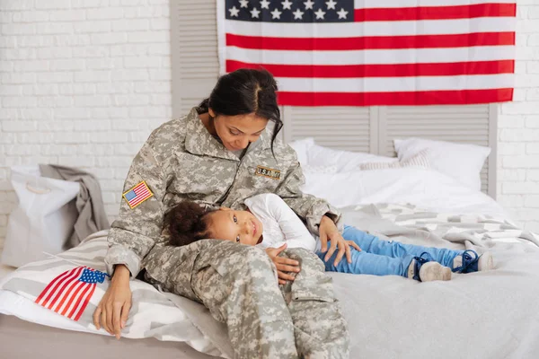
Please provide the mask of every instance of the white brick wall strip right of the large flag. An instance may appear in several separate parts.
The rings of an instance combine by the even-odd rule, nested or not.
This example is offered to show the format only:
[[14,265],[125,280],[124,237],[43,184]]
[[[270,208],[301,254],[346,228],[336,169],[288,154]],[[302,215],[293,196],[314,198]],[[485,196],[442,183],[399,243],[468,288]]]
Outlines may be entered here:
[[498,201],[539,232],[539,1],[517,0],[515,101],[499,114]]

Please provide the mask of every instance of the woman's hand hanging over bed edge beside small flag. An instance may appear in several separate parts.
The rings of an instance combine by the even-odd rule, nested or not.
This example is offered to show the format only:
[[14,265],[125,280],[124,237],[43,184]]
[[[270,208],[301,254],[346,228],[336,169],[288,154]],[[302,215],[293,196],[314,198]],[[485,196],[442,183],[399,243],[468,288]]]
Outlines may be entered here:
[[109,289],[93,313],[93,325],[98,330],[103,327],[117,339],[121,329],[126,326],[131,309],[131,289],[129,288],[129,270],[124,265],[117,265]]

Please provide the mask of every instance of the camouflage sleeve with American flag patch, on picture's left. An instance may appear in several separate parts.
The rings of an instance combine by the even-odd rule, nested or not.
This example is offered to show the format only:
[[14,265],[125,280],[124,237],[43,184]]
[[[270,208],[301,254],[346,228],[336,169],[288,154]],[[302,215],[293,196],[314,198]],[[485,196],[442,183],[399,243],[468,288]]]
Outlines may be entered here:
[[109,250],[105,256],[105,264],[110,274],[113,273],[115,265],[123,264],[128,267],[131,276],[136,277],[142,258],[154,247],[163,230],[163,196],[167,180],[149,141],[143,145],[131,163],[122,193],[143,181],[153,196],[133,208],[122,197],[119,218],[111,225]]

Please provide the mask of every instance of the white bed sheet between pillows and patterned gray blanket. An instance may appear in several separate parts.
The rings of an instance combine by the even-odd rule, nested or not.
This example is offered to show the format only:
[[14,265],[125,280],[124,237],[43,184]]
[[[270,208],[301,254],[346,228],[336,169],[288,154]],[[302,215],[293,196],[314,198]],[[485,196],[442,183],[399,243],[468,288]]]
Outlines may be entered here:
[[439,213],[494,215],[510,220],[508,212],[491,197],[431,169],[305,173],[303,190],[338,208],[410,203]]

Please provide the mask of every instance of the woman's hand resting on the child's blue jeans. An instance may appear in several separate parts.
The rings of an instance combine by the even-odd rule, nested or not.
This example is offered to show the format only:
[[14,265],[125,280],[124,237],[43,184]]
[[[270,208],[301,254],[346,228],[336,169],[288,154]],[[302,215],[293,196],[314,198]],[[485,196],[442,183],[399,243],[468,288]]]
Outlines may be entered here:
[[[331,221],[331,218],[323,215],[322,220],[320,221],[320,242],[322,244],[322,252],[324,253],[327,250],[326,256],[323,258],[324,262],[327,262],[335,250],[339,250],[339,253],[337,253],[337,257],[335,258],[335,261],[333,262],[334,266],[337,266],[340,262],[340,259],[346,254],[346,260],[349,263],[352,263],[352,256],[350,253],[350,246],[354,247],[356,250],[361,250],[354,241],[345,241],[344,238],[340,235],[339,230],[337,229],[337,226],[333,221]],[[328,240],[331,241],[331,248],[328,250]]]

